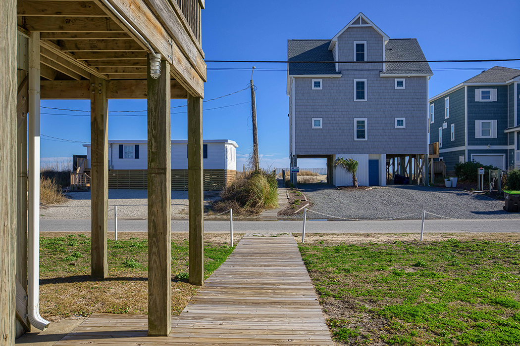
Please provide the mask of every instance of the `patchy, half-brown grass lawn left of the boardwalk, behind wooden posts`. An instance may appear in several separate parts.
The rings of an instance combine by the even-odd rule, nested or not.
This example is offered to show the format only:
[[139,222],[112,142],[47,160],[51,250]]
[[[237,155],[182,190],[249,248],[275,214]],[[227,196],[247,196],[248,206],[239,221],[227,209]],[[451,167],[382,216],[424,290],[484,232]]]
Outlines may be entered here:
[[[236,235],[235,244],[241,234]],[[172,312],[179,314],[198,286],[188,283],[188,234],[172,233]],[[147,233],[121,232],[108,241],[109,278],[90,278],[89,233],[42,233],[40,313],[57,321],[92,313],[148,312]],[[204,234],[209,276],[231,254],[227,235]]]

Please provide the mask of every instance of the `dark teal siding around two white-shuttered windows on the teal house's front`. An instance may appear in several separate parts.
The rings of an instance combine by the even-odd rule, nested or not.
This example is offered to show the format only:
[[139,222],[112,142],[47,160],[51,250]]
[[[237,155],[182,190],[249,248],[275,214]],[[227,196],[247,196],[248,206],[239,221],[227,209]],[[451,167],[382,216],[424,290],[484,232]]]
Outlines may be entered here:
[[[475,89],[497,89],[497,101],[475,102]],[[475,120],[497,120],[497,138],[475,138]],[[507,145],[508,87],[467,87],[467,145]]]

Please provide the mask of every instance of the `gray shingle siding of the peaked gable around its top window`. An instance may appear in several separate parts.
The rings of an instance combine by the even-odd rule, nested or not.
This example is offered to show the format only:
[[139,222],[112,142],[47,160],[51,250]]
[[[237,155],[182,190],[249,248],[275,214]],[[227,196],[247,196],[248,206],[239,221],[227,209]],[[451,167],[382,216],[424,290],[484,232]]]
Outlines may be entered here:
[[[383,61],[383,36],[371,26],[349,27],[337,38],[337,60],[354,61],[354,41],[367,41],[367,61]],[[339,64],[339,70],[374,69],[378,73],[383,64]]]

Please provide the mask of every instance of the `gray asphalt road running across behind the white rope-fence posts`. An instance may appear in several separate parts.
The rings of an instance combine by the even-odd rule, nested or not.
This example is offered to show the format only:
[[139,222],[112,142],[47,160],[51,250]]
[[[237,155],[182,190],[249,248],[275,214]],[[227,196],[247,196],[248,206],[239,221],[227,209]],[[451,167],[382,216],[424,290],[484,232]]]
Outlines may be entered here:
[[[296,221],[235,221],[233,231],[244,232],[301,232],[303,222]],[[147,220],[118,219],[119,232],[143,232],[148,228]],[[108,221],[109,232],[114,231],[113,219]],[[42,232],[89,232],[90,219],[62,220],[41,219]],[[172,232],[187,232],[187,220],[172,220]],[[229,221],[204,222],[205,232],[229,232]],[[421,231],[421,220],[392,221],[321,221],[307,220],[307,233],[415,233]],[[486,220],[436,220],[425,221],[425,233],[451,232],[519,232],[520,220],[486,219]]]

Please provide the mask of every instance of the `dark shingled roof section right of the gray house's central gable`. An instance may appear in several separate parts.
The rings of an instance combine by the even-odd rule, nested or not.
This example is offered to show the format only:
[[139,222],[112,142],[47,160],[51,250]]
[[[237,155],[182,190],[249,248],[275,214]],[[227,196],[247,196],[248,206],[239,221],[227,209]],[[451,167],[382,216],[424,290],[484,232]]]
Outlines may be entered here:
[[381,74],[430,74],[430,65],[417,38],[391,38],[385,45],[385,61],[424,61],[413,63],[386,63],[386,71]]

